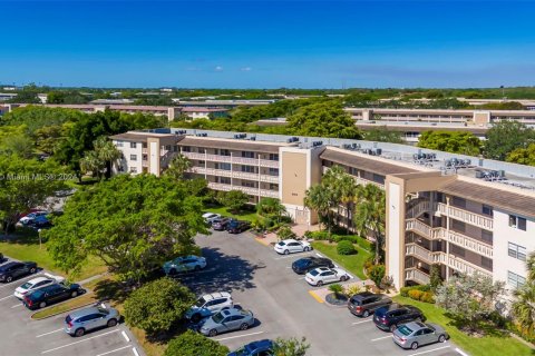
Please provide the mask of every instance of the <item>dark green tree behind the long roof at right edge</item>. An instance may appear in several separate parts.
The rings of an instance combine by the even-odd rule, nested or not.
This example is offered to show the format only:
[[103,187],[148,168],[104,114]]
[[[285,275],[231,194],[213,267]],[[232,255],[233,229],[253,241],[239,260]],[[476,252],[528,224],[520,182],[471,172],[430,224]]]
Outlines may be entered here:
[[535,131],[518,121],[499,121],[487,131],[484,155],[486,158],[505,160],[509,152],[526,148],[535,139]]

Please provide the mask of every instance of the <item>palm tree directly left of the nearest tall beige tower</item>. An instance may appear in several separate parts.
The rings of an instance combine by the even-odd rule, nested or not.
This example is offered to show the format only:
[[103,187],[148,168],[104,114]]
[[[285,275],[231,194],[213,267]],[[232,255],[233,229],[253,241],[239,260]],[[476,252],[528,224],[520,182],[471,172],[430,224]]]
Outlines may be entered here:
[[386,196],[385,190],[368,184],[360,189],[356,228],[362,236],[372,233],[376,239],[376,257],[374,263],[381,260],[382,250],[385,249],[385,226],[386,226]]

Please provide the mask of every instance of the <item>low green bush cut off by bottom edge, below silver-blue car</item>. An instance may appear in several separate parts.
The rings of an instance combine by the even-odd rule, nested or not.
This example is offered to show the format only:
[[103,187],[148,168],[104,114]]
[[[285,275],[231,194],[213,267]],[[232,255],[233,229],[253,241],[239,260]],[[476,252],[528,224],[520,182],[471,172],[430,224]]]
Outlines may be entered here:
[[169,342],[164,356],[226,356],[228,352],[228,347],[187,330]]

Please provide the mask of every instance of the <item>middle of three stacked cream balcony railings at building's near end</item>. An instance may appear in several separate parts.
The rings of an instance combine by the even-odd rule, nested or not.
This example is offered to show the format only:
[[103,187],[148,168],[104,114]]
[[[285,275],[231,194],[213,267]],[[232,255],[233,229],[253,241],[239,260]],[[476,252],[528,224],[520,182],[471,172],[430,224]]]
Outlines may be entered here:
[[483,255],[488,258],[493,258],[493,246],[487,245],[483,241],[479,241],[473,237],[466,236],[464,234],[445,229],[444,227],[431,228],[425,222],[421,222],[418,219],[408,219],[406,221],[406,229],[408,231],[415,231],[424,236],[427,239],[436,240],[446,240],[451,244],[458,245],[467,250]]

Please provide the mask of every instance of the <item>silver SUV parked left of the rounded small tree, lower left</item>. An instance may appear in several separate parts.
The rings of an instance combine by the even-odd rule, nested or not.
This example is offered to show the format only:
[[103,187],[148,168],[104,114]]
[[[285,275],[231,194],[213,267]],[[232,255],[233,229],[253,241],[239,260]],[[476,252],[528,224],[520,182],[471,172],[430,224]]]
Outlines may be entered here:
[[67,315],[64,330],[70,336],[82,336],[96,328],[116,326],[119,323],[119,318],[117,309],[101,304]]

